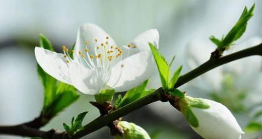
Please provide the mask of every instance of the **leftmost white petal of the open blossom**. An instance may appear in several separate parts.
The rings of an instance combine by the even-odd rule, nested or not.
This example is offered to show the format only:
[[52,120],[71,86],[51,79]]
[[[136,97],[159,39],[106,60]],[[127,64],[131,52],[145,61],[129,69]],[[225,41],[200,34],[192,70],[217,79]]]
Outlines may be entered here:
[[35,57],[38,64],[47,74],[61,82],[71,84],[69,68],[63,54],[35,47]]

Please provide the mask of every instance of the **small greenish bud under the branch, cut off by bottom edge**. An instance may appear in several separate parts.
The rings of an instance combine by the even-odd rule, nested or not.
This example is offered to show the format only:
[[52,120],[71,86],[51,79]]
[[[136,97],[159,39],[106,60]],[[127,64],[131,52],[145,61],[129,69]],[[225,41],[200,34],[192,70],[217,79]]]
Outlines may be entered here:
[[123,137],[116,135],[115,139],[151,139],[147,131],[144,130],[142,127],[136,125],[135,123],[120,121],[118,125],[120,125],[123,128],[124,135]]

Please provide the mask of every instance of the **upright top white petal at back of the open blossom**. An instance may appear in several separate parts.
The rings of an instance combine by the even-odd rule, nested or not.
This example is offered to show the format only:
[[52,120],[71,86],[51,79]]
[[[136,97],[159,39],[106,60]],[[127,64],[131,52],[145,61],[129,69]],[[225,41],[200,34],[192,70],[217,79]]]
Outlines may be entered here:
[[[107,40],[106,37],[109,37]],[[97,42],[95,42],[95,39]],[[89,49],[89,54],[96,55],[95,50],[97,46],[101,46],[101,43],[105,45],[105,43],[108,41],[108,47],[109,46],[116,46],[114,40],[100,27],[98,27],[95,24],[82,24],[80,25],[78,29],[77,34],[77,41],[75,45],[75,53],[74,53],[74,59],[79,59],[81,56],[78,54],[79,51],[82,53],[85,53],[86,44],[85,42],[88,41],[89,44],[87,45],[87,48]],[[100,49],[97,50],[98,53],[103,54],[103,48],[100,47]]]

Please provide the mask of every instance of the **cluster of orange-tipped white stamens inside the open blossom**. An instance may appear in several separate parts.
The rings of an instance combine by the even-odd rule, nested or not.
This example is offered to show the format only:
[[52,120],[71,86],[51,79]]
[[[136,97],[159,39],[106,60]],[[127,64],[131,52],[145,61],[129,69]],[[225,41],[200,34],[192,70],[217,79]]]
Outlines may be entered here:
[[[107,65],[107,63],[111,63],[113,58],[117,58],[120,57],[121,60],[122,58],[122,53],[123,51],[118,47],[118,46],[109,46],[108,45],[108,41],[109,41],[109,36],[106,37],[106,42],[105,43],[101,43],[100,45],[97,45],[98,40],[95,39],[95,56],[93,56],[92,54],[89,55],[89,49],[87,48],[87,46],[89,45],[88,41],[85,41],[85,54],[81,51],[78,52],[79,55],[81,55],[82,60],[80,60],[80,62],[83,64],[83,62],[85,62],[90,68],[94,68],[95,66],[103,66],[105,68],[107,68],[109,65]],[[128,48],[136,48],[136,45],[132,45],[132,44],[128,44],[127,45]],[[101,48],[101,50],[100,50]],[[64,58],[65,60],[69,63],[69,62],[75,62],[69,55],[69,49],[65,46],[62,46],[62,50],[64,52]],[[103,52],[101,52],[103,51]],[[101,52],[101,53],[98,53]],[[72,50],[72,53],[75,53],[75,50]],[[128,52],[129,53],[129,52]],[[87,56],[87,58],[85,58]],[[94,63],[94,58],[96,58],[96,65]]]

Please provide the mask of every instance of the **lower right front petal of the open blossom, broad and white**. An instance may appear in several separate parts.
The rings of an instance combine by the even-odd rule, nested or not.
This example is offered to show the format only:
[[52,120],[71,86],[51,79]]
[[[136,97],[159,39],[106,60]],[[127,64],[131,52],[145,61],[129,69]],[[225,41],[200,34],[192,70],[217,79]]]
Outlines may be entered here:
[[116,92],[126,91],[149,79],[155,69],[156,63],[151,51],[140,52],[116,63],[107,85]]

